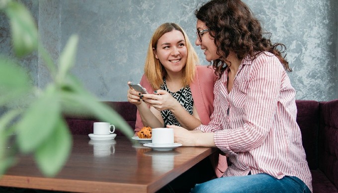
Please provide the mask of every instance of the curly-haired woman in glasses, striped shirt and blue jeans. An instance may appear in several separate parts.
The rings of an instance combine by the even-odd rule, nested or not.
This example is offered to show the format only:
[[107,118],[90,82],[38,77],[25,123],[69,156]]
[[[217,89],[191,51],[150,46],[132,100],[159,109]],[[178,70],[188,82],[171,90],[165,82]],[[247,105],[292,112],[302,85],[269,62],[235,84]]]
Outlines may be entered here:
[[[310,193],[311,173],[296,123],[291,71],[241,0],[211,0],[195,12],[197,39],[219,77],[208,125],[177,126],[175,143],[218,147],[232,163],[192,193]],[[268,35],[268,36],[266,36]],[[264,37],[265,36],[265,37]]]

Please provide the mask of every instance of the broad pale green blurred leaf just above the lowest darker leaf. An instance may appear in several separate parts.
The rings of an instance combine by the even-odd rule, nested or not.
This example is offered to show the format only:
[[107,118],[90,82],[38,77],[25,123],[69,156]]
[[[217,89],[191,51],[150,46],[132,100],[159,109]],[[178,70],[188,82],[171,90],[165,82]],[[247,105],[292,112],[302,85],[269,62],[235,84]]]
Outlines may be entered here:
[[17,142],[22,152],[35,150],[48,138],[60,117],[60,103],[56,88],[50,85],[23,114],[17,124]]

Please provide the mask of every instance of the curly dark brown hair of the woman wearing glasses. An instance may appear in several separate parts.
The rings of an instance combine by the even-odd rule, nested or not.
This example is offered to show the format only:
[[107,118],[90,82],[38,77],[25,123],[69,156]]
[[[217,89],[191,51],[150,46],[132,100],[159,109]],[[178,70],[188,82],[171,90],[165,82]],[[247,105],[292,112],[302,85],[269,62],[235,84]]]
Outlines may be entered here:
[[271,44],[271,33],[263,32],[258,19],[241,0],[211,0],[196,9],[195,15],[211,30],[209,34],[214,38],[217,54],[221,56],[212,63],[218,77],[231,65],[226,60],[230,51],[234,51],[239,59],[250,54],[251,60],[268,51],[278,57],[285,70],[292,71],[285,55],[282,56],[286,51],[285,45]]

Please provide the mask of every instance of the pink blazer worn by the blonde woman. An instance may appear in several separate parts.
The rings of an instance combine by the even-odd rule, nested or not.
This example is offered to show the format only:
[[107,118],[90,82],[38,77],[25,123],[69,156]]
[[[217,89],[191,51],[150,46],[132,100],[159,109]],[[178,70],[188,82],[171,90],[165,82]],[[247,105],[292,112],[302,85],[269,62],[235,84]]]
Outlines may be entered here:
[[[197,66],[193,82],[189,85],[196,110],[203,125],[210,122],[210,116],[214,112],[214,84],[217,76],[212,67]],[[154,93],[147,77],[142,76],[140,85],[146,88],[148,93]],[[144,127],[139,111],[136,114],[135,132]],[[227,165],[226,156],[210,156],[211,163],[215,168],[217,177],[221,177],[225,172]]]

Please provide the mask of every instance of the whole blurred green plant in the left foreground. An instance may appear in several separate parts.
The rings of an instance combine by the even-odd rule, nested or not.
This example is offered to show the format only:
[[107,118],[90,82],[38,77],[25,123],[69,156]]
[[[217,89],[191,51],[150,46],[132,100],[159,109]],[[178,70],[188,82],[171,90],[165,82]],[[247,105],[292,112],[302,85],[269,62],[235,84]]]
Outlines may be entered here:
[[[118,113],[89,94],[70,74],[78,36],[70,37],[56,65],[39,45],[36,24],[25,6],[17,1],[0,0],[0,11],[8,17],[16,56],[38,51],[53,79],[46,88],[30,85],[26,70],[16,61],[0,55],[0,106],[8,109],[0,117],[0,175],[15,164],[17,154],[33,153],[41,172],[55,176],[72,148],[64,113],[85,112],[114,124],[126,136],[133,135],[133,130]],[[10,105],[25,97],[26,104],[21,104],[22,107]],[[6,146],[11,147],[4,148]]]

